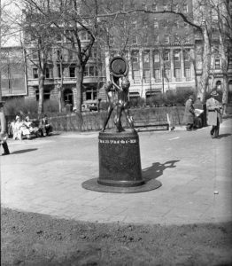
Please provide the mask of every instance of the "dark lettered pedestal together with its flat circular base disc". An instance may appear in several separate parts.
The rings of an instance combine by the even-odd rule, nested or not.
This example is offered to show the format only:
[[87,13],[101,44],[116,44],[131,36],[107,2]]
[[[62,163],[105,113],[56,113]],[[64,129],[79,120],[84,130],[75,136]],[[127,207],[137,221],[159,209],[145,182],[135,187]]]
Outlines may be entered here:
[[155,178],[143,178],[137,132],[100,132],[98,152],[99,176],[82,183],[83,188],[96,192],[135,193],[161,186]]

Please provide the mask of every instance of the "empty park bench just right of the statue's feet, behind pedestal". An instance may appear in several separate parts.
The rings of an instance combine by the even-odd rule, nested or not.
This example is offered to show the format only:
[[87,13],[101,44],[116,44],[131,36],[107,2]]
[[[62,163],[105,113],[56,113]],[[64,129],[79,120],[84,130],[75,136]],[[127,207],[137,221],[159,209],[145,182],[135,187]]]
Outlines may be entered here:
[[135,119],[134,127],[137,131],[169,130],[170,121],[168,113],[166,113],[166,116],[162,115],[148,119]]

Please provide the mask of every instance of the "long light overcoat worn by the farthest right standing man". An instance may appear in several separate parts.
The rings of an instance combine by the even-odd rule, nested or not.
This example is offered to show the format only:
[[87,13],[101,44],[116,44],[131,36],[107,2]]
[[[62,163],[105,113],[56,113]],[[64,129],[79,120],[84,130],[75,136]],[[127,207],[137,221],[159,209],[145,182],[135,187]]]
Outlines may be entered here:
[[207,108],[207,124],[209,126],[216,126],[217,125],[217,119],[219,119],[219,122],[221,123],[221,106],[220,102],[216,99],[209,98],[206,101],[206,108]]

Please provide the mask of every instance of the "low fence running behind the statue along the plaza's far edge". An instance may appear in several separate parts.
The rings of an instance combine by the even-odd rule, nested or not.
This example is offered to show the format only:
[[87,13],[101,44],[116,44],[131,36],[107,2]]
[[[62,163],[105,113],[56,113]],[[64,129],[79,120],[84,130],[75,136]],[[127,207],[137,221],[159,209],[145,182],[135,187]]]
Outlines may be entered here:
[[[152,121],[166,121],[166,113],[168,113],[170,126],[182,125],[182,117],[184,113],[184,106],[174,107],[148,107],[148,108],[131,108],[130,114],[136,119],[149,122]],[[57,131],[90,131],[100,130],[103,128],[104,120],[106,118],[106,111],[96,113],[70,113],[66,115],[59,115],[50,117],[50,124],[54,130]],[[113,123],[114,113],[108,122],[107,129],[114,127]],[[128,127],[124,115],[122,115],[122,124]]]

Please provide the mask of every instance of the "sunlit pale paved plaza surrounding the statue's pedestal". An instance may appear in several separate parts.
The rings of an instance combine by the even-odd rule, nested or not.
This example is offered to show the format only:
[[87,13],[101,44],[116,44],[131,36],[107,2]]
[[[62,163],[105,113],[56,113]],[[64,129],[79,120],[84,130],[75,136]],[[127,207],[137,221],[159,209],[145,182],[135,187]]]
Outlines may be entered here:
[[10,139],[12,154],[0,157],[2,206],[98,223],[231,221],[232,120],[219,139],[210,129],[139,133],[143,176],[162,186],[127,194],[81,187],[98,176],[97,132]]

